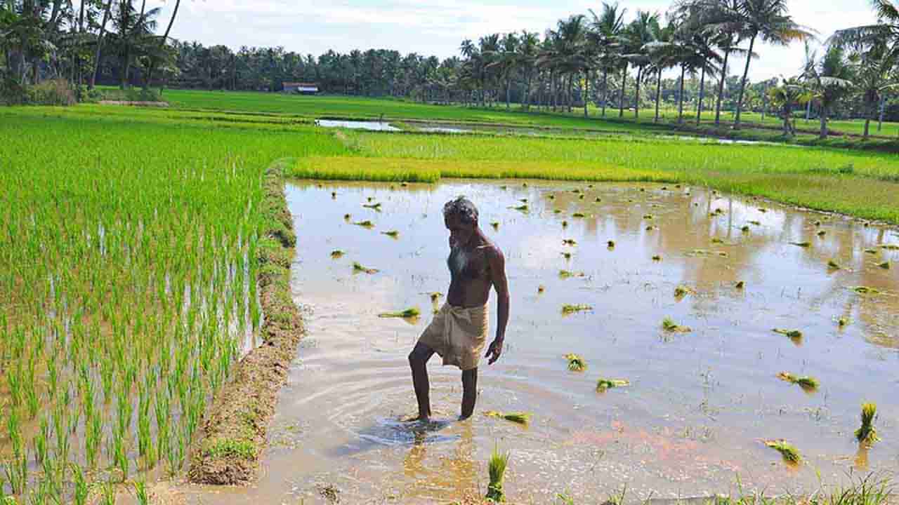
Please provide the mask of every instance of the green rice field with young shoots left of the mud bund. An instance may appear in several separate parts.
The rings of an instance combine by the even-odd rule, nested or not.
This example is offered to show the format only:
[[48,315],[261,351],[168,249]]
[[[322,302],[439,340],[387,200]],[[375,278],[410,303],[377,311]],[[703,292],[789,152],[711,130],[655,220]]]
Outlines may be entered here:
[[260,323],[263,170],[343,146],[45,112],[0,110],[0,495],[84,503],[181,469]]

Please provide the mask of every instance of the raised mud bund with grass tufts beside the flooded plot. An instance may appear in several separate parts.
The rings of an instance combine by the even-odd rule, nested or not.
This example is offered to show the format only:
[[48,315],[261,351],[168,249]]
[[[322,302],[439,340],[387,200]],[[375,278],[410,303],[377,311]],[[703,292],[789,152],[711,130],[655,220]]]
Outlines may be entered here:
[[290,362],[304,332],[290,296],[290,261],[297,237],[284,198],[283,167],[272,164],[264,175],[259,293],[265,320],[263,344],[241,359],[204,416],[204,433],[194,447],[188,478],[192,483],[245,484],[254,480],[275,411],[278,391],[287,382]]

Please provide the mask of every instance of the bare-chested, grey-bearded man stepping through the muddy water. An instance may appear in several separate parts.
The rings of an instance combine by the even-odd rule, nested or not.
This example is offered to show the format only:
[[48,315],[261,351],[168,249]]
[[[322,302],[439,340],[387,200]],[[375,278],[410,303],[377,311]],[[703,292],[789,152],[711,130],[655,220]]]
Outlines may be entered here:
[[444,365],[462,370],[462,415],[467,419],[475,412],[477,397],[477,364],[487,338],[487,300],[490,288],[496,289],[496,338],[487,348],[485,358],[493,365],[503,353],[506,323],[509,322],[509,285],[505,276],[503,252],[490,242],[477,226],[477,208],[464,197],[443,206],[443,221],[449,230],[449,294],[440,312],[424,330],[414,350],[409,353],[418,421],[430,421],[431,385],[428,382],[428,359],[436,352]]

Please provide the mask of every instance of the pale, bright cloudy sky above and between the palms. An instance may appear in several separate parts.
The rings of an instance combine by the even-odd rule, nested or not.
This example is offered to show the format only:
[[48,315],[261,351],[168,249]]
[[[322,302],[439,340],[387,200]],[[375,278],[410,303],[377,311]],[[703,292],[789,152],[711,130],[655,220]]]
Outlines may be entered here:
[[[669,0],[619,0],[628,9],[663,13]],[[149,0],[162,7],[159,31],[165,30],[174,0]],[[825,40],[841,28],[875,22],[865,0],[788,0],[789,13]],[[171,36],[223,44],[276,47],[319,55],[328,49],[396,49],[405,54],[458,56],[462,40],[493,32],[538,31],[573,13],[599,12],[601,1],[583,0],[182,0]],[[752,62],[753,81],[795,75],[803,62],[803,44],[788,48],[761,45]],[[732,66],[730,74],[742,68]]]

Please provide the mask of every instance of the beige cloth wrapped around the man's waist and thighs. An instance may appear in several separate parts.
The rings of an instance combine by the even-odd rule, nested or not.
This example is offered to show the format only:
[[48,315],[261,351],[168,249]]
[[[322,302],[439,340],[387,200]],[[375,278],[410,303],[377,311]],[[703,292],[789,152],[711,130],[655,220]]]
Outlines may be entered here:
[[444,366],[470,370],[477,368],[481,359],[488,322],[486,304],[475,307],[443,304],[418,341],[439,354]]

